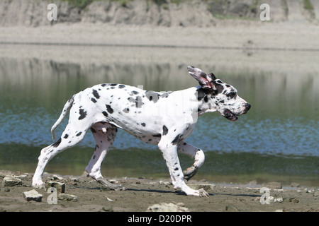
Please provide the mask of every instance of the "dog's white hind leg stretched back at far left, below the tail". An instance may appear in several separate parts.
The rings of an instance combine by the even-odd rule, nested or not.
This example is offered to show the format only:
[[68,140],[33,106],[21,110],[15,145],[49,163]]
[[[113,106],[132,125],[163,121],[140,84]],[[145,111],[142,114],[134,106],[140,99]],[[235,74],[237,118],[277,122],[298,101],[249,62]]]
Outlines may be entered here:
[[52,157],[55,157],[55,155],[58,153],[77,145],[77,143],[83,140],[87,129],[77,130],[77,127],[78,125],[74,125],[69,122],[60,139],[41,150],[40,156],[38,158],[38,166],[33,175],[32,186],[35,188],[43,188],[44,183],[42,182],[42,176],[47,162],[49,162]]

